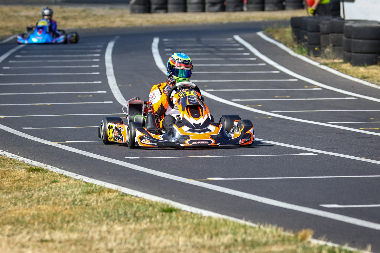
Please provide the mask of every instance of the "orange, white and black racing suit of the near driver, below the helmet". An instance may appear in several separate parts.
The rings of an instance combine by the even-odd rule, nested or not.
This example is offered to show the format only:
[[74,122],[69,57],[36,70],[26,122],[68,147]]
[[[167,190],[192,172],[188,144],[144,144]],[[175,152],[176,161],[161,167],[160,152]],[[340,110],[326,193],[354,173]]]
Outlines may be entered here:
[[152,102],[153,113],[160,117],[164,116],[160,121],[160,127],[165,131],[168,131],[174,125],[176,117],[179,115],[178,109],[172,109],[168,106],[167,94],[171,88],[169,83],[171,84],[172,82],[169,78],[165,83],[153,85],[149,93],[149,101]]

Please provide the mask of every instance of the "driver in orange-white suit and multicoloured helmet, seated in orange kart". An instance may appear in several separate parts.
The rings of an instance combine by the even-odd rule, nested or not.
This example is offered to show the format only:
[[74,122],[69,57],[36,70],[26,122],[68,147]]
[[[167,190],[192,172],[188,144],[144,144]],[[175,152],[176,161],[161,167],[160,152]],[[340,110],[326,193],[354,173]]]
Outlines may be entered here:
[[[171,87],[176,83],[188,81],[192,74],[193,63],[184,53],[173,53],[166,64],[166,74],[168,78],[165,83],[154,85],[150,90],[149,101],[153,105],[153,113],[160,116],[160,127],[164,131],[176,123],[176,116],[179,115],[178,109],[168,106],[167,95]],[[162,119],[162,116],[164,118]]]

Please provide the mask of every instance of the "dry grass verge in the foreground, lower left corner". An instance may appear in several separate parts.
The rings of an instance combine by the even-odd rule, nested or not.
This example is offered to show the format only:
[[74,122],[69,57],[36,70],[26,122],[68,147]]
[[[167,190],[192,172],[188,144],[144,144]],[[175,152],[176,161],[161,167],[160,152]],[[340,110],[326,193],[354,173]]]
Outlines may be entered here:
[[0,252],[343,253],[310,229],[252,227],[121,194],[0,156]]

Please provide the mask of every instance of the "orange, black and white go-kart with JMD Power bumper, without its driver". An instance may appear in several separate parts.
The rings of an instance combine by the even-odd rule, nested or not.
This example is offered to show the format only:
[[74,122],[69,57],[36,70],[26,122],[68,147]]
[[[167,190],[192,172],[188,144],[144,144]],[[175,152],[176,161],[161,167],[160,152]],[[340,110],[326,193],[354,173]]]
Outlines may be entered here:
[[[171,100],[174,91],[176,93]],[[152,104],[135,97],[123,105],[128,123],[124,124],[118,117],[104,118],[98,127],[98,137],[104,144],[128,143],[130,148],[250,146],[255,142],[249,119],[223,115],[219,123],[214,122],[201,91],[192,82],[174,85],[168,92],[168,104],[171,108],[177,107],[179,115],[167,132],[158,127],[162,118],[152,113]],[[124,111],[125,106],[127,112]]]

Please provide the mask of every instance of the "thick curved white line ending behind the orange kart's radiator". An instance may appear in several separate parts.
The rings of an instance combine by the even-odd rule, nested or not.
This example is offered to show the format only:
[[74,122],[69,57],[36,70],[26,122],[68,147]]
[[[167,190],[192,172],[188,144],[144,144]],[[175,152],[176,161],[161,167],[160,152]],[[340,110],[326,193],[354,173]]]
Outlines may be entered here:
[[120,92],[119,87],[117,86],[114,74],[114,65],[112,64],[112,49],[114,48],[115,41],[119,38],[120,36],[115,36],[110,42],[108,42],[104,58],[106,63],[106,74],[109,88],[111,88],[112,94],[114,94],[114,97],[116,98],[117,102],[119,102],[121,105],[124,105],[125,103],[127,103],[127,101],[125,100],[125,98]]

